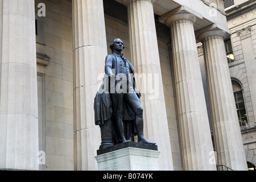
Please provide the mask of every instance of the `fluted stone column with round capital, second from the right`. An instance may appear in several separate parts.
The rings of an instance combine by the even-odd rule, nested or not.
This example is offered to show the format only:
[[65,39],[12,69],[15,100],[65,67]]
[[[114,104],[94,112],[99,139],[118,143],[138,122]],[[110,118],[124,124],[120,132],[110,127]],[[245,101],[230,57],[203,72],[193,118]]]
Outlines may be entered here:
[[213,144],[195,42],[195,20],[195,15],[189,13],[166,19],[173,43],[183,169],[216,170],[210,162]]

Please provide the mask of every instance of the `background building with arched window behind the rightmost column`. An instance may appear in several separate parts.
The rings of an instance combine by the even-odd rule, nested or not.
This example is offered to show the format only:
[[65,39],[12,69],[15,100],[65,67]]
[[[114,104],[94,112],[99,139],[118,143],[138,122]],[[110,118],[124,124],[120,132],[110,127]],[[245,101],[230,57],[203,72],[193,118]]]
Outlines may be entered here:
[[[256,163],[256,2],[224,1],[230,39],[225,40],[247,163]],[[231,52],[232,51],[232,52]],[[230,55],[230,56],[229,56]]]

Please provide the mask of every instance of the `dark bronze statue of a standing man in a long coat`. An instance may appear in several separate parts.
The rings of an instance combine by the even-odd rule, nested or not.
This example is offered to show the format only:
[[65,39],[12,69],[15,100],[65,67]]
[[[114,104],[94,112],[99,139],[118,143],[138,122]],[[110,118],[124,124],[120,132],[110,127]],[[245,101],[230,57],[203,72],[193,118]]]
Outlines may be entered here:
[[122,54],[122,40],[115,39],[110,48],[106,76],[94,101],[95,124],[101,126],[102,145],[124,143],[135,135],[138,143],[155,145],[143,134],[141,93],[136,89],[134,67]]

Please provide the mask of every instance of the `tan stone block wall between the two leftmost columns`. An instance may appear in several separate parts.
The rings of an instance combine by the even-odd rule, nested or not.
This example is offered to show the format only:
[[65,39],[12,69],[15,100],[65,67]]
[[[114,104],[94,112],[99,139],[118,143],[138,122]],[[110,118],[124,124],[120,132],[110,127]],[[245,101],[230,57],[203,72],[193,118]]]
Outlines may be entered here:
[[[39,79],[43,77],[45,101],[44,121],[40,139],[46,152],[46,170],[73,170],[73,35],[72,6],[68,1],[35,1],[45,3],[46,17],[38,18],[37,53],[50,57],[49,65],[38,64]],[[41,31],[44,30],[44,31]],[[39,106],[40,107],[40,106]],[[42,111],[42,110],[41,110]],[[40,145],[40,144],[39,144]],[[42,168],[41,168],[42,169]]]

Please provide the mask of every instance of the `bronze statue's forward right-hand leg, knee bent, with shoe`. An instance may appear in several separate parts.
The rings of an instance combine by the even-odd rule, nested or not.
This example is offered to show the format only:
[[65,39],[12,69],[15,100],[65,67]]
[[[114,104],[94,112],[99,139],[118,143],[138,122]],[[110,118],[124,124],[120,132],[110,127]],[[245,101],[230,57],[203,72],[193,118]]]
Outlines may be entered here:
[[150,142],[144,137],[143,132],[143,109],[141,107],[141,104],[139,104],[139,99],[135,92],[133,93],[127,93],[125,95],[125,101],[127,104],[133,109],[135,113],[135,127],[138,133],[138,143],[146,143],[146,144],[152,144],[155,145],[156,143]]

